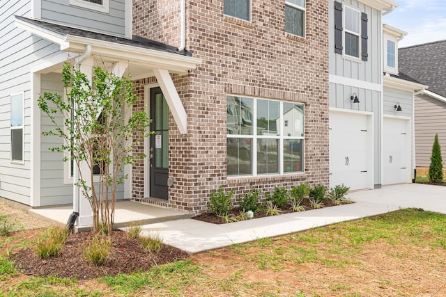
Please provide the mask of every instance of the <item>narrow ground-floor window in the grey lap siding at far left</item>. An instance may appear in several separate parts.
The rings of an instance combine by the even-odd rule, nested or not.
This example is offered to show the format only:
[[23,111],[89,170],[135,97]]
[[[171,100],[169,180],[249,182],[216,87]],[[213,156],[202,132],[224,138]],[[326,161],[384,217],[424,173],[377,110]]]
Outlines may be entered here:
[[10,97],[11,161],[23,163],[23,93]]

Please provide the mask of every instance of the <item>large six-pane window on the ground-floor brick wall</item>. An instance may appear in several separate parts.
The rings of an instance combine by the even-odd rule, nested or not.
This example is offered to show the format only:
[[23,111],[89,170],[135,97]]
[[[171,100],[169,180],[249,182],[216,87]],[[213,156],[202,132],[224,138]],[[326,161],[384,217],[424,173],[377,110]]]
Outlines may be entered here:
[[303,171],[303,104],[227,96],[226,111],[228,176]]

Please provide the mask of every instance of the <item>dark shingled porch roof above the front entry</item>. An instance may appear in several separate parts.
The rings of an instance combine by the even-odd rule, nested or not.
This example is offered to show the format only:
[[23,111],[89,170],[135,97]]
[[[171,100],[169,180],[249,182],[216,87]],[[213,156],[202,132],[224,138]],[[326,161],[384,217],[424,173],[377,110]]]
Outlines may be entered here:
[[53,33],[59,35],[73,35],[83,38],[90,38],[93,40],[102,40],[105,42],[114,42],[120,45],[130,45],[132,47],[141,47],[144,49],[154,49],[156,51],[165,51],[174,54],[180,54],[183,56],[192,56],[189,51],[178,51],[176,47],[172,47],[170,45],[165,45],[161,42],[155,42],[153,40],[149,40],[146,38],[142,38],[136,35],[132,36],[132,39],[121,38],[117,36],[96,33],[91,31],[86,31],[82,29],[76,29],[68,26],[63,26],[59,24],[52,24],[49,22],[40,21],[37,19],[29,19],[27,17],[15,16],[16,19],[20,19],[23,22],[28,22],[29,24],[34,24],[39,26],[42,29],[47,29],[48,31],[52,31]]

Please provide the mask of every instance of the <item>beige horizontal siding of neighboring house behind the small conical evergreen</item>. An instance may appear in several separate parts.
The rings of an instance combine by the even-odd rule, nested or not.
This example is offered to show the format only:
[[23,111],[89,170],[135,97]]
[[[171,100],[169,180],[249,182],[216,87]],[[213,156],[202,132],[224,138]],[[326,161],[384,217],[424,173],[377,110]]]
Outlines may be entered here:
[[429,167],[432,145],[438,134],[443,167],[446,161],[446,102],[429,97],[415,96],[415,166]]

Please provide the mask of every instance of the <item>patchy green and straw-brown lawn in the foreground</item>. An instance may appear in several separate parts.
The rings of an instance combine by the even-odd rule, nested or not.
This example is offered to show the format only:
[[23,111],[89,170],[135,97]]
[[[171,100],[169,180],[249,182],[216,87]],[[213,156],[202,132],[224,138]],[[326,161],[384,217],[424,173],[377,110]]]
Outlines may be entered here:
[[446,296],[446,216],[422,209],[93,280],[22,275],[6,254],[27,232],[0,237],[0,296]]

